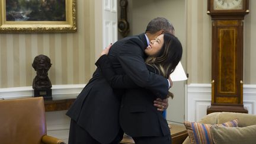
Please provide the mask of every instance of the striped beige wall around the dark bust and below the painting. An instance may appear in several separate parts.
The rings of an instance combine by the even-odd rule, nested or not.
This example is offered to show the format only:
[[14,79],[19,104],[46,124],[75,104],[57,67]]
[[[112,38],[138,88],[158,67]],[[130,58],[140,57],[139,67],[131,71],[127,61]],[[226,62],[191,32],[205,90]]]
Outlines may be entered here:
[[76,1],[76,33],[0,34],[0,88],[31,86],[36,75],[31,63],[40,54],[51,59],[53,85],[86,84],[95,69],[97,3]]

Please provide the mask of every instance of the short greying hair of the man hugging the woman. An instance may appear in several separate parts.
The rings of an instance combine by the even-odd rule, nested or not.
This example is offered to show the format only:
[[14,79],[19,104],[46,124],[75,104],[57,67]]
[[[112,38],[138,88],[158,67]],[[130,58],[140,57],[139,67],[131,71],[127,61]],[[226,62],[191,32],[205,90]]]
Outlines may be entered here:
[[164,30],[164,33],[174,34],[174,26],[163,17],[157,17],[149,21],[146,33],[155,34],[157,31]]

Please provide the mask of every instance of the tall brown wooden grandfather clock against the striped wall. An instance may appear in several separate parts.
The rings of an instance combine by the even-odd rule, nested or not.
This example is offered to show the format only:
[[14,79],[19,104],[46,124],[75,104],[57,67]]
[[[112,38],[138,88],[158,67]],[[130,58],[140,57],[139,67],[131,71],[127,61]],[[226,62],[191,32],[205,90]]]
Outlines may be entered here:
[[212,103],[207,114],[248,113],[243,104],[243,28],[248,0],[208,0],[212,17]]

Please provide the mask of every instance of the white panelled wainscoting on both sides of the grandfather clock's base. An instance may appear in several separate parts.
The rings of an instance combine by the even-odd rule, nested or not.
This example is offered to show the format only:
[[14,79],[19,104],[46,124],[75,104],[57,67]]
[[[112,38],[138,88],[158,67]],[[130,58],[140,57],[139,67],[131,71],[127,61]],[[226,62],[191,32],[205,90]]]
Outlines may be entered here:
[[[206,116],[207,107],[211,103],[211,84],[190,84],[187,87],[186,120],[199,121]],[[249,114],[256,114],[256,85],[244,85],[244,107]]]

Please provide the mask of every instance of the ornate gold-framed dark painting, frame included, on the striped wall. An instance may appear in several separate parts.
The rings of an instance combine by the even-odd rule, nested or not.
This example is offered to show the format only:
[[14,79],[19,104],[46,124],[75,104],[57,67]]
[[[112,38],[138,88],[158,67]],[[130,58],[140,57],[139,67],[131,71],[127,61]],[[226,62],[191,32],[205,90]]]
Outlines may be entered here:
[[[68,33],[77,29],[76,0],[0,1],[0,33]],[[29,2],[37,2],[36,8]]]

